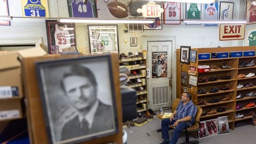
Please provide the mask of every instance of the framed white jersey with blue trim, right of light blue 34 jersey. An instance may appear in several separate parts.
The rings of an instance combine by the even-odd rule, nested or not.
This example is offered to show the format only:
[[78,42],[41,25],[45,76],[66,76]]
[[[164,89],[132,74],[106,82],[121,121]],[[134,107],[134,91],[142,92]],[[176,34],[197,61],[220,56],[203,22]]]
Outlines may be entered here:
[[233,19],[233,2],[220,2],[220,20],[232,20]]

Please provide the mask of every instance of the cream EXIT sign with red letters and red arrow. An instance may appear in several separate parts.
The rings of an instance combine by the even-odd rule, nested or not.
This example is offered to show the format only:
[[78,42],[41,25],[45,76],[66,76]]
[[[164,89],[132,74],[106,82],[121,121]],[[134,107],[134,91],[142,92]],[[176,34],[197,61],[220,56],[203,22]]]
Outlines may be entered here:
[[220,40],[244,39],[245,24],[221,24]]

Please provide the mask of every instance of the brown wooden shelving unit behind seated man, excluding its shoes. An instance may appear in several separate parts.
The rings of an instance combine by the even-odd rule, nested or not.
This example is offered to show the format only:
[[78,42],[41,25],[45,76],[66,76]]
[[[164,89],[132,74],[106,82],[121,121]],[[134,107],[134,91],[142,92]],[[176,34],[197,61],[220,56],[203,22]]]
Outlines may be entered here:
[[[228,116],[228,122],[230,129],[234,129],[234,123],[238,121],[243,121],[244,119],[248,119],[246,116],[245,118],[235,118],[236,113],[247,113],[248,111],[255,111],[256,107],[250,107],[250,108],[242,108],[240,110],[236,110],[237,103],[242,103],[242,105],[247,104],[248,102],[256,102],[256,97],[244,97],[243,99],[236,100],[236,97],[238,94],[247,94],[252,91],[256,91],[256,76],[250,77],[250,78],[240,78],[238,79],[237,76],[239,74],[245,74],[248,73],[254,73],[256,74],[256,66],[251,67],[243,67],[239,68],[238,65],[244,61],[248,63],[250,60],[254,60],[254,63],[256,63],[256,56],[253,57],[234,57],[234,58],[220,58],[220,59],[209,59],[209,60],[198,60],[198,54],[202,53],[217,53],[217,52],[236,52],[236,51],[255,51],[256,46],[238,46],[238,47],[221,47],[221,48],[203,48],[203,49],[191,49],[193,51],[197,51],[197,61],[196,62],[190,62],[189,64],[180,63],[180,51],[177,51],[177,98],[180,98],[181,93],[184,91],[184,87],[187,88],[188,92],[193,94],[192,101],[197,104],[200,100],[210,101],[213,98],[222,99],[225,97],[225,95],[228,95],[230,98],[229,101],[226,102],[219,102],[219,103],[207,103],[206,105],[201,105],[202,109],[204,111],[209,111],[213,108],[218,109],[221,106],[224,106],[227,110],[224,112],[218,112],[216,114],[207,114],[205,116],[201,116],[201,120],[208,120],[217,118],[218,116]],[[220,70],[209,70],[208,73],[196,73],[196,77],[198,77],[198,81],[202,78],[210,79],[213,76],[216,76],[218,78],[218,81],[213,82],[205,82],[205,83],[198,83],[197,86],[194,85],[183,85],[181,84],[181,71],[188,72],[189,65],[198,66],[199,65],[211,65],[214,64],[218,67],[222,67],[222,63],[227,63],[231,66],[230,69],[220,69]],[[197,69],[198,70],[198,69]],[[231,79],[229,80],[221,80],[221,77],[224,76],[231,76]],[[189,75],[187,77],[187,81],[189,81]],[[242,83],[243,85],[246,85],[246,83],[251,82],[254,85],[252,87],[246,87],[237,89],[237,84]],[[226,84],[230,84],[231,89],[230,90],[219,90],[215,93],[210,93],[209,90],[217,87],[222,88]],[[198,90],[201,88],[204,88],[206,90],[206,93],[204,94],[198,94]]]

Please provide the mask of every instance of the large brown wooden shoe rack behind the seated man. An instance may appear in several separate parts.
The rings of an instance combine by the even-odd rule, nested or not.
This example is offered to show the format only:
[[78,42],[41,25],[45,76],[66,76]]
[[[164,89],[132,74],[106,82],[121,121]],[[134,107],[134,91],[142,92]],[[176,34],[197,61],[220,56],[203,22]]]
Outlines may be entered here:
[[[256,61],[256,57],[229,57],[229,58],[212,58],[207,60],[198,60],[198,54],[203,53],[218,53],[218,52],[236,52],[236,51],[255,51],[256,46],[238,46],[238,47],[221,47],[221,48],[202,48],[191,49],[197,51],[197,61],[190,62],[189,64],[180,63],[180,51],[177,51],[177,74],[181,71],[188,72],[189,65],[197,66],[196,77],[198,83],[194,85],[181,84],[181,76],[177,75],[177,98],[184,91],[184,87],[188,92],[193,94],[192,101],[199,105],[203,111],[206,112],[202,115],[200,121],[214,119],[219,116],[227,116],[229,128],[234,129],[234,124],[237,121],[251,118],[252,116],[244,116],[244,118],[235,118],[237,113],[253,113],[256,112],[256,107],[243,107],[236,110],[237,104],[242,106],[248,103],[256,102],[256,95],[254,97],[244,97],[237,100],[239,94],[246,95],[250,92],[256,92],[256,77],[238,78],[239,74],[256,73],[256,66],[239,67],[242,62],[249,63],[251,60]],[[209,65],[210,67],[221,69],[209,70],[207,73],[199,73],[199,65]],[[231,67],[228,67],[231,66]],[[223,68],[222,68],[223,67]],[[187,76],[187,83],[190,75]],[[217,77],[217,79],[215,78]],[[207,79],[207,80],[206,80]],[[210,81],[209,81],[210,80]],[[248,84],[248,83],[251,84]],[[249,87],[237,89],[239,83],[249,85]],[[254,84],[254,85],[253,85]],[[186,89],[185,88],[185,89]],[[216,89],[217,88],[217,89]],[[247,105],[248,106],[248,105]],[[237,115],[236,115],[237,114]]]

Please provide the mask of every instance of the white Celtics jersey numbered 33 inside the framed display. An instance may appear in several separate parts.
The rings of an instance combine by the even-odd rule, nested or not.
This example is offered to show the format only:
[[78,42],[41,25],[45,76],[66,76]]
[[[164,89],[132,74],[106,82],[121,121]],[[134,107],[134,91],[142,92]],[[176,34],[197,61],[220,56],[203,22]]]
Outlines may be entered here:
[[104,51],[115,51],[113,50],[115,34],[110,33],[109,30],[100,30],[97,42],[103,43]]

